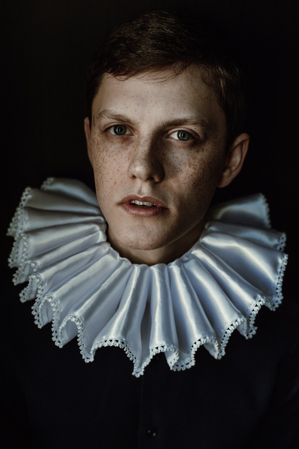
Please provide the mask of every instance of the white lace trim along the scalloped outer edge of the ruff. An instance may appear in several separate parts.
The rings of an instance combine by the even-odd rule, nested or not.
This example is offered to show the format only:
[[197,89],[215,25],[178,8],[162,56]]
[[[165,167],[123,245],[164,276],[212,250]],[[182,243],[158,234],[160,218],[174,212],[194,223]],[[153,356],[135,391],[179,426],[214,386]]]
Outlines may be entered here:
[[[54,178],[47,178],[47,180],[45,180],[42,185],[42,189],[46,189],[48,185],[51,185],[53,179]],[[28,243],[28,240],[29,240],[28,235],[26,233],[22,233],[22,229],[21,229],[22,220],[23,220],[23,208],[27,202],[28,197],[31,194],[31,191],[32,191],[32,189],[30,187],[27,187],[24,190],[22,197],[21,197],[19,207],[17,207],[17,210],[15,212],[15,215],[13,216],[13,219],[9,225],[9,229],[7,232],[7,235],[16,236],[15,242],[13,244],[13,249],[9,256],[9,266],[10,267],[17,266],[18,251],[19,251],[19,247],[21,244],[21,240],[23,239],[21,262],[19,263],[17,272],[13,276],[14,284],[17,284],[21,281],[21,277],[24,274],[24,269],[25,269],[26,263],[30,263],[34,267],[34,261],[27,260],[28,244],[29,244]],[[264,197],[264,195],[261,194],[261,196],[264,200],[266,218],[267,218],[268,225],[270,226],[269,205],[268,205],[268,202],[267,202],[266,198]],[[286,243],[286,234],[282,233],[280,242],[278,244],[278,249],[280,251],[283,250],[285,243]],[[276,297],[274,298],[274,303],[273,303],[273,300],[270,301],[269,299],[266,299],[265,297],[260,298],[259,301],[255,304],[254,308],[252,309],[251,314],[248,318],[246,318],[244,316],[238,317],[238,319],[236,319],[225,330],[224,336],[223,336],[220,344],[217,342],[217,339],[215,338],[215,336],[205,336],[205,337],[202,337],[202,338],[198,339],[197,341],[195,341],[195,343],[193,343],[190,348],[191,361],[188,361],[188,362],[179,362],[178,361],[178,359],[179,359],[178,348],[174,345],[168,344],[168,345],[157,346],[156,348],[150,349],[149,357],[147,357],[145,359],[145,361],[143,362],[142,366],[139,367],[139,361],[137,360],[137,357],[134,356],[134,353],[130,350],[127,343],[125,343],[121,340],[117,340],[117,339],[108,339],[108,340],[103,340],[101,342],[98,342],[92,346],[91,352],[88,353],[86,351],[85,344],[83,342],[84,324],[83,324],[82,320],[79,317],[77,317],[76,315],[68,315],[62,321],[61,326],[58,326],[59,316],[60,316],[58,301],[51,294],[47,294],[47,295],[43,296],[43,291],[44,291],[43,282],[42,282],[41,277],[37,273],[33,273],[29,276],[28,285],[20,293],[20,299],[22,302],[25,302],[28,299],[30,299],[29,295],[30,295],[30,291],[32,290],[32,283],[35,281],[36,286],[37,286],[37,295],[36,295],[36,299],[35,299],[35,304],[32,306],[32,313],[35,317],[35,324],[37,324],[37,326],[39,328],[41,328],[42,326],[44,326],[44,324],[46,324],[43,321],[41,309],[42,309],[44,303],[46,301],[48,301],[49,304],[51,305],[52,314],[53,314],[53,317],[52,317],[52,339],[53,339],[53,341],[60,348],[62,346],[64,346],[64,344],[66,342],[64,343],[63,341],[61,341],[61,330],[66,325],[67,321],[73,321],[76,324],[77,329],[78,329],[77,339],[78,339],[78,345],[80,348],[80,353],[82,354],[82,357],[86,362],[90,362],[90,361],[94,360],[94,354],[95,354],[95,351],[97,348],[101,348],[102,346],[115,346],[115,347],[123,348],[125,350],[127,356],[130,358],[130,360],[133,361],[134,371],[132,374],[134,374],[136,377],[139,377],[140,375],[143,374],[144,368],[150,363],[150,361],[152,360],[152,357],[155,354],[160,353],[160,352],[166,352],[166,351],[172,351],[175,354],[173,361],[171,361],[171,363],[169,364],[171,370],[186,370],[188,368],[191,368],[191,366],[195,365],[195,352],[197,351],[199,346],[204,345],[205,343],[213,343],[214,351],[215,351],[214,357],[216,359],[220,359],[221,357],[223,357],[225,355],[226,344],[228,343],[228,340],[230,339],[230,335],[233,333],[233,331],[237,327],[240,327],[239,330],[240,330],[241,334],[243,336],[245,336],[245,338],[247,338],[247,339],[251,338],[256,333],[256,327],[254,326],[254,321],[255,321],[256,315],[259,312],[261,306],[266,305],[271,310],[275,310],[282,302],[282,298],[283,298],[282,297],[282,280],[283,280],[283,275],[284,275],[284,272],[286,269],[287,259],[288,259],[287,255],[284,255],[284,257],[282,259],[281,266],[278,271],[278,280],[277,280],[277,285],[276,285]]]

